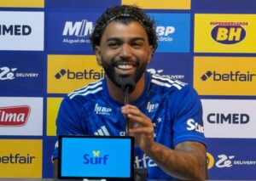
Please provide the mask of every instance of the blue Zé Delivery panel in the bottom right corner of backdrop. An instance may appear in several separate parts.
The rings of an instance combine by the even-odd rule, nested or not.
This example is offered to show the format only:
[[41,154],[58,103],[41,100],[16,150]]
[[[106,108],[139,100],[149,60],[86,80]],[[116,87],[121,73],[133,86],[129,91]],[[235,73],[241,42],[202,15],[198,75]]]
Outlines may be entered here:
[[256,139],[208,139],[207,152],[214,157],[210,178],[255,180],[255,145]]

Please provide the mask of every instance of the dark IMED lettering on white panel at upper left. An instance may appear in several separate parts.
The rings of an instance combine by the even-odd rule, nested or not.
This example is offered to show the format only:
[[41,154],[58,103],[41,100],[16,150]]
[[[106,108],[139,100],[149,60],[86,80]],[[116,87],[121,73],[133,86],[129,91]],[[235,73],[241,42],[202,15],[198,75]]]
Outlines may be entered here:
[[0,35],[27,36],[31,33],[29,25],[0,25]]

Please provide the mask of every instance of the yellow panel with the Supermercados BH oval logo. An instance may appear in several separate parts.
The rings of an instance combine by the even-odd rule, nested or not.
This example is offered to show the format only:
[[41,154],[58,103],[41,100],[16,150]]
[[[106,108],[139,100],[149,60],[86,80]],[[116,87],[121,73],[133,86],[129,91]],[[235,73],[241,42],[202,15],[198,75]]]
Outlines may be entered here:
[[[256,53],[255,22],[255,14],[195,14],[195,52]],[[231,26],[241,27],[246,36],[236,43],[217,42],[212,37],[212,30],[217,25],[221,25],[226,31],[230,31]],[[229,36],[229,32],[226,36]]]

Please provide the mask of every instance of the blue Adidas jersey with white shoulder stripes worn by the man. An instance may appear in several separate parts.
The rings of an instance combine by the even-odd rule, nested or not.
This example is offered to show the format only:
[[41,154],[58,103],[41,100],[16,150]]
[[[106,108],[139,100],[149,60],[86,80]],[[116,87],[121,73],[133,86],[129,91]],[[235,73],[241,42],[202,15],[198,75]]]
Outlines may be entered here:
[[[143,94],[136,105],[154,123],[154,140],[174,149],[183,141],[205,144],[201,101],[195,89],[183,82],[145,72]],[[125,134],[122,103],[113,100],[106,78],[91,83],[62,101],[57,116],[57,135],[115,135]],[[55,148],[53,159],[57,158]],[[135,167],[148,169],[148,178],[170,179],[154,161],[138,147],[135,148]]]

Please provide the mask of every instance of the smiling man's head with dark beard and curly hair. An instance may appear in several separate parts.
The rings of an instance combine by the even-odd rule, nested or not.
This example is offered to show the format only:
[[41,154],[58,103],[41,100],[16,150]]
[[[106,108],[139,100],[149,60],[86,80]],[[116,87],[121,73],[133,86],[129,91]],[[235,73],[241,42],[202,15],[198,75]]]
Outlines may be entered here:
[[90,41],[108,80],[121,88],[123,82],[139,82],[157,48],[154,21],[136,6],[109,8],[99,20]]

